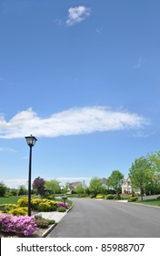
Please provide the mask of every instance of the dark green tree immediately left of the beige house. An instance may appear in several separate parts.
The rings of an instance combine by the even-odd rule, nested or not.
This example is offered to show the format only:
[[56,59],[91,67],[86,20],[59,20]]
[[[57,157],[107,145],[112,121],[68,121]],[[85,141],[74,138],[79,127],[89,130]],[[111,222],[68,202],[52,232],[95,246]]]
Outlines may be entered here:
[[124,181],[124,175],[120,171],[115,170],[107,178],[107,186],[113,187],[116,193],[119,194],[121,191],[123,181]]

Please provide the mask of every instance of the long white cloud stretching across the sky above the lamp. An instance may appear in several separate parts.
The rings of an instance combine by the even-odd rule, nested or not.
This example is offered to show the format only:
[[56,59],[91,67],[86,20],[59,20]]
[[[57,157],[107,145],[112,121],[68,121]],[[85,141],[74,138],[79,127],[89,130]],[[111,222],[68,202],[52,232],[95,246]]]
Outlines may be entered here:
[[0,115],[0,138],[22,138],[28,134],[37,137],[57,137],[95,132],[143,128],[151,122],[136,113],[114,111],[108,107],[69,109],[41,118],[31,108],[18,112],[6,121]]

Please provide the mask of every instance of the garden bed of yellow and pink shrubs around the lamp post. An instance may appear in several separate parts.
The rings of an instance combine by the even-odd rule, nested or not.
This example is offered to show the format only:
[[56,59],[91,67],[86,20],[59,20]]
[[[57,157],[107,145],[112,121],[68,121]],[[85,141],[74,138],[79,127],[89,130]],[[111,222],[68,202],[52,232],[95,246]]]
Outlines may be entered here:
[[27,197],[20,197],[17,204],[4,204],[0,213],[0,237],[42,237],[47,229],[55,225],[53,219],[43,219],[39,212],[65,212],[72,204],[33,198],[31,200],[32,216],[27,216]]

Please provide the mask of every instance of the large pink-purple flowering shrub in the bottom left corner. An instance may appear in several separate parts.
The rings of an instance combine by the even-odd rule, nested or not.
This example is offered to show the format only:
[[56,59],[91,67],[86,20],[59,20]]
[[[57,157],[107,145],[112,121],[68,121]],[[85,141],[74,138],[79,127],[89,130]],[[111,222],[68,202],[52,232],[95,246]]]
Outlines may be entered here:
[[13,216],[12,214],[0,214],[0,230],[14,232],[16,234],[31,235],[37,230],[35,217]]

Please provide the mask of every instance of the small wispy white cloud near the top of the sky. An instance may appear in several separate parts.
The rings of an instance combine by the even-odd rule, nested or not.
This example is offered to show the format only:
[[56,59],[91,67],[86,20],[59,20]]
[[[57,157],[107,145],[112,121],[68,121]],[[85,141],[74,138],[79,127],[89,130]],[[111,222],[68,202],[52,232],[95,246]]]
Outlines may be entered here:
[[83,5],[77,6],[77,7],[71,7],[68,9],[68,18],[66,20],[67,26],[73,26],[75,23],[79,23],[87,16],[90,16],[91,9],[88,7],[85,7]]

